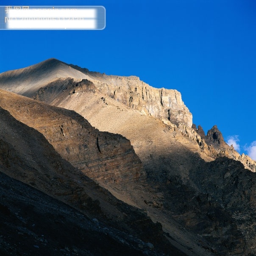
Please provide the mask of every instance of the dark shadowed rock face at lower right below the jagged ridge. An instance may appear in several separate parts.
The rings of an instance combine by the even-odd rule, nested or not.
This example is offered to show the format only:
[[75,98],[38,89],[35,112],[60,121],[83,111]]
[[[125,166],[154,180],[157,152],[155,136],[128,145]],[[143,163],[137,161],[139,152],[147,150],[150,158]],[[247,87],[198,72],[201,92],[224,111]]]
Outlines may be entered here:
[[[212,253],[254,255],[255,173],[225,157],[209,163],[197,160],[186,181],[178,174],[168,177],[164,207],[206,239],[200,244]],[[212,240],[216,244],[211,247]]]

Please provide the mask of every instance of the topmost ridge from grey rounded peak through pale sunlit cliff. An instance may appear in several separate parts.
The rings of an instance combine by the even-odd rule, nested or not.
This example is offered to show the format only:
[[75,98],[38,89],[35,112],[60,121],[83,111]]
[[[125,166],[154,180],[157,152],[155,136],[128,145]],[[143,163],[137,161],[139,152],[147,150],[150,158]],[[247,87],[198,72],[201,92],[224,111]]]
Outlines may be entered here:
[[180,92],[176,90],[153,88],[136,76],[121,77],[90,72],[56,59],[0,74],[0,89],[31,97],[40,87],[68,77],[76,82],[88,79],[103,95],[112,97],[142,114],[192,126],[192,114],[181,100]]

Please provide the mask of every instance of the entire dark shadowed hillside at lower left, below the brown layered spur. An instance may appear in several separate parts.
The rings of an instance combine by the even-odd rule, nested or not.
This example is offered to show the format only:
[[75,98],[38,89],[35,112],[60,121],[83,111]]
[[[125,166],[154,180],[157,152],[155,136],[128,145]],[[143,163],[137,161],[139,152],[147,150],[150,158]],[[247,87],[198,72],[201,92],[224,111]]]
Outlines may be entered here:
[[183,255],[159,223],[62,159],[42,134],[2,108],[0,117],[1,255]]

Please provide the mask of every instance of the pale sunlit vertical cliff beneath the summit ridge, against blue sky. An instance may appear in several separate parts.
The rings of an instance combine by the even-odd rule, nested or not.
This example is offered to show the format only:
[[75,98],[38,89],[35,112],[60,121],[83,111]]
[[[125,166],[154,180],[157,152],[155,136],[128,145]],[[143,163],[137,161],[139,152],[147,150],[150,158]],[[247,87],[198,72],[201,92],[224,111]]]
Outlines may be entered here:
[[177,90],[153,88],[136,76],[104,75],[101,81],[95,82],[95,86],[104,95],[139,110],[142,114],[160,120],[166,119],[176,125],[181,122],[188,127],[192,126],[192,114],[184,105],[181,93]]

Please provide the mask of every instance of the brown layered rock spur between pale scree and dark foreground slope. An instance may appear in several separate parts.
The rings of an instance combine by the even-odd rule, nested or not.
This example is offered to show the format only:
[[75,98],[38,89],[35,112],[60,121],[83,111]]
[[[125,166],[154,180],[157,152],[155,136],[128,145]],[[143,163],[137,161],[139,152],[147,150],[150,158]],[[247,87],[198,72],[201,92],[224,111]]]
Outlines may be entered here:
[[90,178],[112,184],[145,179],[142,163],[127,139],[98,131],[74,111],[2,90],[0,106],[41,132],[64,159]]

